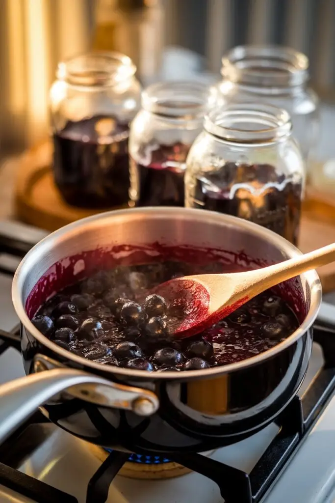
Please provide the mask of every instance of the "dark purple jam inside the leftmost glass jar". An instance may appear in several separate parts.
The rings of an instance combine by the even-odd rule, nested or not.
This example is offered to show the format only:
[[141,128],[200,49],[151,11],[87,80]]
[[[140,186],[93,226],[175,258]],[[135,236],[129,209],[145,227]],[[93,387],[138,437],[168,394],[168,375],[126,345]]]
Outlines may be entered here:
[[54,133],[55,182],[69,204],[107,208],[128,203],[128,124],[106,116],[69,121]]

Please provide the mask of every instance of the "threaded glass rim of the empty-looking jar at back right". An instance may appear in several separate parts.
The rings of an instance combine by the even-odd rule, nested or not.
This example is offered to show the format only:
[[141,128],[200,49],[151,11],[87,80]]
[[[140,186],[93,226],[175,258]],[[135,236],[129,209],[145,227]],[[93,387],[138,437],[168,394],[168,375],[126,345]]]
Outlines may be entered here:
[[308,79],[309,59],[280,45],[240,45],[221,59],[221,75],[259,87],[300,86]]

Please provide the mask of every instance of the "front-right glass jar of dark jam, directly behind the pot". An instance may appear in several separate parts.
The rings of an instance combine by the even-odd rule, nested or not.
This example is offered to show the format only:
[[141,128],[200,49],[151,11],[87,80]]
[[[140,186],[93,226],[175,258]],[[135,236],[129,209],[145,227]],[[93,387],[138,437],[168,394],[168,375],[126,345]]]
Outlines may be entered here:
[[304,161],[289,114],[270,105],[211,111],[186,161],[185,205],[245,218],[297,243]]

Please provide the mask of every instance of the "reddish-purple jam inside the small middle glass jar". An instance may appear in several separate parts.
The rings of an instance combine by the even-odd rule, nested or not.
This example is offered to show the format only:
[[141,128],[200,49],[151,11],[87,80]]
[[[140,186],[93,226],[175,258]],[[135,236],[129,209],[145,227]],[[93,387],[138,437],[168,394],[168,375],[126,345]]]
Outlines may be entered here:
[[185,160],[190,145],[161,145],[130,159],[131,198],[136,206],[184,206]]

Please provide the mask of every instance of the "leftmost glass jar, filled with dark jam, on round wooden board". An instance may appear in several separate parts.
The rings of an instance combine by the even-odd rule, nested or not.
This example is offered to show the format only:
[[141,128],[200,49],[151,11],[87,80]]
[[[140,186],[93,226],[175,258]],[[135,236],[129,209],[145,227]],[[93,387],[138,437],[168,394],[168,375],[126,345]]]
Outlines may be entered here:
[[89,53],[58,65],[50,91],[53,173],[69,204],[128,204],[129,123],[141,100],[135,71],[119,53]]

